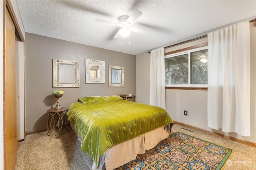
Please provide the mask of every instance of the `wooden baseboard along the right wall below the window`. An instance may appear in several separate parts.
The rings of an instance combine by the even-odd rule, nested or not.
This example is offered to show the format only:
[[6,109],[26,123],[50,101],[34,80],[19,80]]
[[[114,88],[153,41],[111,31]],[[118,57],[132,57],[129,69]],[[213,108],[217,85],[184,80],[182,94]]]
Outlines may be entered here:
[[253,143],[253,142],[238,139],[238,138],[235,138],[235,137],[232,137],[232,136],[227,136],[225,134],[220,134],[220,133],[217,133],[217,132],[211,132],[209,130],[204,130],[202,128],[194,127],[194,126],[187,125],[187,124],[180,123],[180,122],[176,122],[176,121],[174,121],[174,124],[184,126],[184,127],[187,127],[187,128],[191,128],[191,129],[194,129],[194,130],[198,130],[198,131],[201,131],[201,132],[205,132],[205,133],[208,133],[208,134],[212,134],[214,136],[219,136],[219,137],[222,137],[222,138],[225,138],[225,139],[229,139],[229,140],[232,140],[232,141],[242,143],[242,144],[245,144],[245,145],[252,146],[252,147],[256,148],[256,143]]

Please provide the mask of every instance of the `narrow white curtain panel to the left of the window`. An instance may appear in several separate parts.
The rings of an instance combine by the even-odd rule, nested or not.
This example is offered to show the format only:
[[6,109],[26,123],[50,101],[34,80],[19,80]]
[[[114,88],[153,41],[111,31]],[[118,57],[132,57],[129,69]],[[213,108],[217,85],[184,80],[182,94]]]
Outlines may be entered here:
[[150,105],[165,107],[164,48],[150,51]]

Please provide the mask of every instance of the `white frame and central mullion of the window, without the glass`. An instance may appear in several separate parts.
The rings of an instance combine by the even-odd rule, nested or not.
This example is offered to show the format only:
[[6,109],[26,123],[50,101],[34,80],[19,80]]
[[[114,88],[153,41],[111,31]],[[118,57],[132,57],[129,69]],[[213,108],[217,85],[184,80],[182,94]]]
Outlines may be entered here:
[[[177,52],[177,53],[172,53],[172,54],[169,54],[169,55],[165,55],[164,56],[164,59],[166,58],[170,58],[170,57],[176,57],[178,55],[184,55],[184,54],[188,54],[188,84],[182,84],[182,85],[165,85],[165,87],[208,87],[208,84],[190,84],[190,75],[191,75],[191,68],[190,68],[190,63],[191,63],[191,57],[190,57],[190,53],[192,52],[196,52],[196,51],[200,51],[200,50],[204,50],[204,49],[208,49],[208,45],[204,46],[204,47],[199,47],[199,48],[194,48],[194,49],[188,49],[188,50],[185,50],[185,51],[180,51],[180,52]],[[207,64],[208,64],[208,61],[207,61]]]

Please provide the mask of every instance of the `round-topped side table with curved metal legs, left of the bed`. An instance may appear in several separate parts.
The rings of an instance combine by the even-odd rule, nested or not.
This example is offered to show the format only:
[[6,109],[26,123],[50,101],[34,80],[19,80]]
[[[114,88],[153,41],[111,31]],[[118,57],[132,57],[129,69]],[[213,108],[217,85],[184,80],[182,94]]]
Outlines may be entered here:
[[62,107],[59,110],[48,109],[47,119],[47,135],[56,136],[62,130],[63,124],[65,125],[66,131],[68,131],[67,113],[68,108]]

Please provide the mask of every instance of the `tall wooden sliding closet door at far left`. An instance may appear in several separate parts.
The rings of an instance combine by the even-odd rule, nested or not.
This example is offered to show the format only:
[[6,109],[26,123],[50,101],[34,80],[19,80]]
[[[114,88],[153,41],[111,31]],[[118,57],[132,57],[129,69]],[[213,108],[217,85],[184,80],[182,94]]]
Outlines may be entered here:
[[20,116],[17,115],[16,109],[16,36],[15,26],[7,8],[4,16],[4,170],[13,170],[20,141]]

